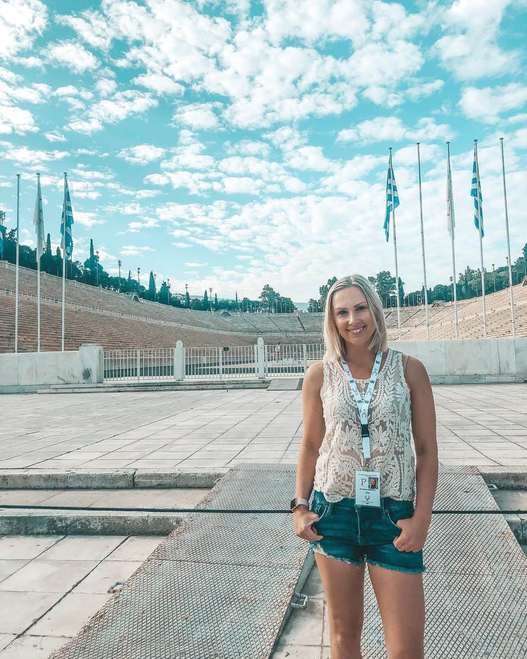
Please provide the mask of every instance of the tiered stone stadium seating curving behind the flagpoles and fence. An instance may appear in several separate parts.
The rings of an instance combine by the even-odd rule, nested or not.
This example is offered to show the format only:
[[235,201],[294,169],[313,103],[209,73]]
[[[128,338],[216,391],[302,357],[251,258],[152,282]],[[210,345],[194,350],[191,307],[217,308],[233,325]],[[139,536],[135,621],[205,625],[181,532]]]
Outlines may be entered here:
[[[41,275],[41,349],[61,346],[62,279]],[[14,266],[0,261],[0,352],[14,349]],[[36,349],[36,271],[20,268],[19,349]],[[265,343],[319,343],[323,314],[247,314],[194,311],[145,300],[132,301],[121,293],[76,281],[67,282],[65,348],[97,342],[105,349],[185,346],[253,345]],[[487,295],[487,335],[511,336],[509,290]],[[514,287],[516,335],[527,336],[527,285]],[[397,310],[386,310],[390,339],[397,338]],[[430,306],[430,338],[455,337],[454,308],[450,303]],[[460,338],[483,335],[482,300],[458,302]],[[401,308],[401,338],[426,339],[423,307]]]

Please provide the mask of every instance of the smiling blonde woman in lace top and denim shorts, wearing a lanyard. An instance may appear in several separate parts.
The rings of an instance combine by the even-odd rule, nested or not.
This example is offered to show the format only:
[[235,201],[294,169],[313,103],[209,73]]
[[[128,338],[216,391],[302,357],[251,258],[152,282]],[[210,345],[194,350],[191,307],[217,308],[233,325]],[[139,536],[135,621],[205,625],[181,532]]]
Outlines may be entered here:
[[422,548],[438,469],[430,380],[418,359],[387,347],[381,301],[361,275],[329,289],[324,342],[304,376],[291,507],[296,535],[315,552],[331,659],[362,658],[365,560],[389,659],[423,659]]

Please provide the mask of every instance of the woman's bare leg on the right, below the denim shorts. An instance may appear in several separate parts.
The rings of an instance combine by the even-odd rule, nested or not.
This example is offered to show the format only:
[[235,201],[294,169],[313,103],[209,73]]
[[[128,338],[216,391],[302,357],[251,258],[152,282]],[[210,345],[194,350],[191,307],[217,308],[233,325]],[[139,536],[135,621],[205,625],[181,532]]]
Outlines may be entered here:
[[368,564],[388,659],[424,658],[423,575]]

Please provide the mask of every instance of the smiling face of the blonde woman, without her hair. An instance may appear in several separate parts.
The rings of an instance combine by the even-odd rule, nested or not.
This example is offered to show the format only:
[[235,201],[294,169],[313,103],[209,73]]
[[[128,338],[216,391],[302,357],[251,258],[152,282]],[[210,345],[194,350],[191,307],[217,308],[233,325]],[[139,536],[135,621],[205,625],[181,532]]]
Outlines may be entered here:
[[366,295],[358,286],[339,289],[331,299],[331,315],[347,347],[365,347],[375,332],[375,322]]

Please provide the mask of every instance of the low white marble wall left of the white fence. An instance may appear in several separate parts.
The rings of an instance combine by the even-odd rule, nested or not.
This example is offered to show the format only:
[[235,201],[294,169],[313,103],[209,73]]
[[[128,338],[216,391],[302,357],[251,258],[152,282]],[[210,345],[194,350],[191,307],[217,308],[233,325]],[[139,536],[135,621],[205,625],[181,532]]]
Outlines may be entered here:
[[0,386],[87,384],[103,381],[101,345],[78,351],[0,355]]

